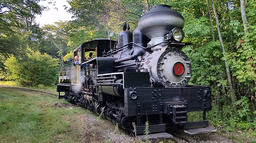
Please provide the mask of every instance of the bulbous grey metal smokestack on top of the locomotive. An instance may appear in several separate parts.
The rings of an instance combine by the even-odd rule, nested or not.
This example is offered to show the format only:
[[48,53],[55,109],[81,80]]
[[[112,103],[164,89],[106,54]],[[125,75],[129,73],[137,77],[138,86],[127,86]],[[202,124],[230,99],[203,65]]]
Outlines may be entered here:
[[169,5],[160,4],[153,6],[140,18],[138,28],[151,39],[147,46],[153,46],[164,41],[163,34],[175,27],[182,29],[184,24],[185,20],[180,13],[170,9]]

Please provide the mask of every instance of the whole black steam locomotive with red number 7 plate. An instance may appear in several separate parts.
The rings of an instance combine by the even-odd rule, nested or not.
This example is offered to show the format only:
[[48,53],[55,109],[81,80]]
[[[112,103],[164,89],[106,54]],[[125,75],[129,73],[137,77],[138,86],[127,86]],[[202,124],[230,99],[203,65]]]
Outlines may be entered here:
[[[212,109],[211,87],[188,85],[191,63],[182,48],[184,18],[168,5],[153,6],[133,33],[123,24],[118,41],[96,39],[74,50],[76,66],[61,67],[57,92],[81,106],[104,114],[119,127],[143,134],[145,122],[156,137],[168,127],[196,134],[213,131],[205,120]],[[95,58],[87,60],[86,52]],[[202,111],[203,120],[187,122],[187,112]],[[160,134],[157,134],[160,133]]]

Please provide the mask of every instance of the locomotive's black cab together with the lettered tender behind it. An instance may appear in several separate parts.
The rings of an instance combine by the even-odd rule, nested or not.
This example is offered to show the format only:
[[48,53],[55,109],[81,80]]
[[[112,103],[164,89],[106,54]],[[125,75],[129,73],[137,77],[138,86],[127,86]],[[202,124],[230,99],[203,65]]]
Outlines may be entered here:
[[[82,92],[82,85],[84,84],[84,70],[86,65],[94,64],[94,59],[102,57],[106,51],[114,49],[116,41],[108,39],[96,39],[81,44],[73,51],[73,57],[79,57],[79,64],[74,66],[59,68],[59,83],[57,84],[57,92],[59,92],[59,99],[65,98],[60,95],[60,92],[75,94]],[[93,53],[93,60],[88,60],[89,53]],[[70,97],[69,97],[70,98]],[[71,101],[73,101],[72,95]]]

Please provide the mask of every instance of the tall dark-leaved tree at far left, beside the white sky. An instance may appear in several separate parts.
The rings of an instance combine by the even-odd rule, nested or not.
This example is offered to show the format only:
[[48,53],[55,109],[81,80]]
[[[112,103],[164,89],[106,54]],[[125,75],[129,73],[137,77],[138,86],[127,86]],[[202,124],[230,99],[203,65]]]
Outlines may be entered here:
[[40,0],[4,0],[0,1],[0,69],[3,62],[14,55],[22,57],[26,45],[36,41],[39,28],[33,24],[34,16],[41,14],[45,7]]

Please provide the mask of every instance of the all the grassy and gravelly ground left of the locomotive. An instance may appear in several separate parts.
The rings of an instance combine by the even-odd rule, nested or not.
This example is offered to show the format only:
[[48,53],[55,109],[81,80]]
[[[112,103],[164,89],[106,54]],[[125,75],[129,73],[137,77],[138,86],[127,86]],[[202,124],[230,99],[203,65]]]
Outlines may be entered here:
[[[0,143],[112,143],[113,137],[120,136],[120,142],[128,138],[111,121],[81,107],[70,109],[66,100],[1,87],[0,93]],[[61,108],[55,102],[62,102]]]

